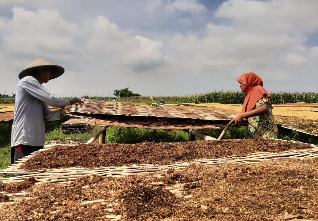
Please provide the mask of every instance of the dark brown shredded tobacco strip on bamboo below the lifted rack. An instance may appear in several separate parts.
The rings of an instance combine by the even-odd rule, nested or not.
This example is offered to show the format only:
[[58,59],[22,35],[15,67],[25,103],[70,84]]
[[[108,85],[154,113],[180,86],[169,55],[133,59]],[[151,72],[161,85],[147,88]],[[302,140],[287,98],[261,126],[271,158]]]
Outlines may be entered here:
[[311,149],[309,144],[258,139],[200,141],[180,143],[137,144],[79,144],[55,146],[25,162],[21,169],[52,169],[68,167],[98,168],[131,164],[168,165],[199,158],[219,158],[230,155],[249,155],[255,152],[283,152],[292,149]]

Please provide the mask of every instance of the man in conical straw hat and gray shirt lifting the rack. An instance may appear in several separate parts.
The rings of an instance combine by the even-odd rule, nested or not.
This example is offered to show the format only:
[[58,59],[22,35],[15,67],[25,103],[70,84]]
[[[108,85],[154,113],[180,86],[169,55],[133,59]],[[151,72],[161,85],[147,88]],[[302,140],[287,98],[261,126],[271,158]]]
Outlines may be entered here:
[[[46,59],[35,59],[19,74],[11,134],[11,164],[43,148],[44,121],[60,120],[67,113],[69,105],[83,103],[79,99],[56,97],[42,86],[63,73],[63,67]],[[62,109],[51,111],[48,105]]]

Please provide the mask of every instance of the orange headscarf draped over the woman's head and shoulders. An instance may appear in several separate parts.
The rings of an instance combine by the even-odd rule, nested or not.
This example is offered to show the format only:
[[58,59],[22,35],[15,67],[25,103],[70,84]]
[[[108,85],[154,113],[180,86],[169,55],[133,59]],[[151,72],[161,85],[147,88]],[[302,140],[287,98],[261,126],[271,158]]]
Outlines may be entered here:
[[271,95],[263,87],[262,79],[255,73],[242,74],[237,80],[246,86],[247,95],[243,103],[242,113],[251,111],[255,107],[256,102],[264,97],[265,94],[268,99],[271,98]]

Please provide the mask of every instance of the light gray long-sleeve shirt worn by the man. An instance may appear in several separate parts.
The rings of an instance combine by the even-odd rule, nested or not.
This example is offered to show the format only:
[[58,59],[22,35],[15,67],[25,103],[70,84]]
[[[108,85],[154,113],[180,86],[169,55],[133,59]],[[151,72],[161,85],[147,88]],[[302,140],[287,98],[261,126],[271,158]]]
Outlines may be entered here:
[[44,121],[62,119],[60,110],[49,106],[66,107],[69,100],[55,97],[35,77],[26,76],[17,85],[11,146],[19,144],[41,147],[45,143]]

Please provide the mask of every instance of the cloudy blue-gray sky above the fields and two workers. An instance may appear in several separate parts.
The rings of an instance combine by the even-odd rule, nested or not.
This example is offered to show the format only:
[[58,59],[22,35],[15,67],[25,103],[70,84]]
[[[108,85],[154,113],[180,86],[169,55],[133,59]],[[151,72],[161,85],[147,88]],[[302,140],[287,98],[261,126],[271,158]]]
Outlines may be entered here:
[[36,58],[65,68],[56,96],[318,92],[317,0],[0,0],[0,93]]

